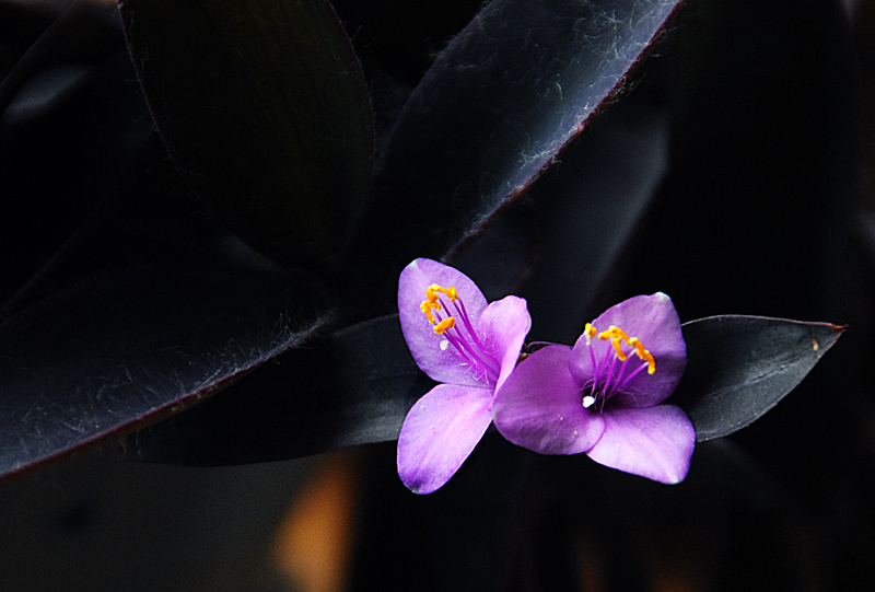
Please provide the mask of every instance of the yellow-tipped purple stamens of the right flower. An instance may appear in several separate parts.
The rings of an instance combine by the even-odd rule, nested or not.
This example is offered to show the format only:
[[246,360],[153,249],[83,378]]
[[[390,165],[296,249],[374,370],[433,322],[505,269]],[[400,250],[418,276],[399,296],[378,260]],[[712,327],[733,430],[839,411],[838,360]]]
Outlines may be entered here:
[[[644,344],[638,337],[629,337],[620,327],[610,325],[606,330],[599,333],[594,325],[586,323],[583,334],[586,336],[586,345],[590,346],[590,357],[593,363],[592,383],[587,382],[583,385],[584,392],[590,390],[588,394],[583,396],[584,408],[602,413],[605,403],[617,393],[623,392],[629,382],[644,369],[648,370],[648,374],[656,372],[656,361],[653,359],[653,355],[644,348]],[[592,339],[596,338],[604,341],[609,340],[611,346],[605,350],[600,361],[596,359],[591,344]],[[629,367],[635,365],[631,361],[634,356],[641,360],[641,363],[630,371]]]

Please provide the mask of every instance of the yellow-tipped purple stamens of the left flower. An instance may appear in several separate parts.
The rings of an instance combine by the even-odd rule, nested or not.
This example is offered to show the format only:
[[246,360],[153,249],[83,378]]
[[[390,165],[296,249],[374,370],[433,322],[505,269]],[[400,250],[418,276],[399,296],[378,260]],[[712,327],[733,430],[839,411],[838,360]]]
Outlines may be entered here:
[[455,288],[432,283],[425,289],[425,300],[419,307],[429,323],[434,325],[434,333],[444,337],[439,343],[442,350],[448,350],[471,367],[478,378],[490,385],[498,382],[501,367],[474,329],[465,303]]

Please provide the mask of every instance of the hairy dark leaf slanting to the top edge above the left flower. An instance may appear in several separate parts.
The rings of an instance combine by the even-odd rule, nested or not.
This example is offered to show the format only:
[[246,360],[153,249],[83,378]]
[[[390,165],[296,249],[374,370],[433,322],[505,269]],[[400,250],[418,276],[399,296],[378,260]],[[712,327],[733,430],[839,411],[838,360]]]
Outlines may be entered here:
[[[370,212],[380,244],[368,252],[440,256],[478,229],[580,131],[677,5],[489,3],[434,62],[388,138]],[[392,233],[374,232],[387,224]]]

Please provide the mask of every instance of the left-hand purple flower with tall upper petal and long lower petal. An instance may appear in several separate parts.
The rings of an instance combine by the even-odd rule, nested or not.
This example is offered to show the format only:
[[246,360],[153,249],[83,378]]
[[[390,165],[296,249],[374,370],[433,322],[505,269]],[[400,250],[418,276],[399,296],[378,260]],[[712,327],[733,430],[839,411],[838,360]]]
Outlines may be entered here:
[[401,330],[417,364],[441,382],[407,414],[398,436],[398,475],[431,494],[471,453],[492,422],[495,391],[516,365],[532,326],[526,301],[487,305],[464,274],[416,259],[398,280]]

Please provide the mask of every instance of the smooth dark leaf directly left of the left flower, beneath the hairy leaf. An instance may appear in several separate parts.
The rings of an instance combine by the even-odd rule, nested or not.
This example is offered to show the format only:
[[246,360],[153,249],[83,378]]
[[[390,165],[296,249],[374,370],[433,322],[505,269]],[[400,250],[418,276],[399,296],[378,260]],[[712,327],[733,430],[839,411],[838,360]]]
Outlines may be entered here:
[[136,460],[186,465],[279,461],[398,438],[434,386],[398,315],[372,318],[288,351],[210,401],[128,437]]

